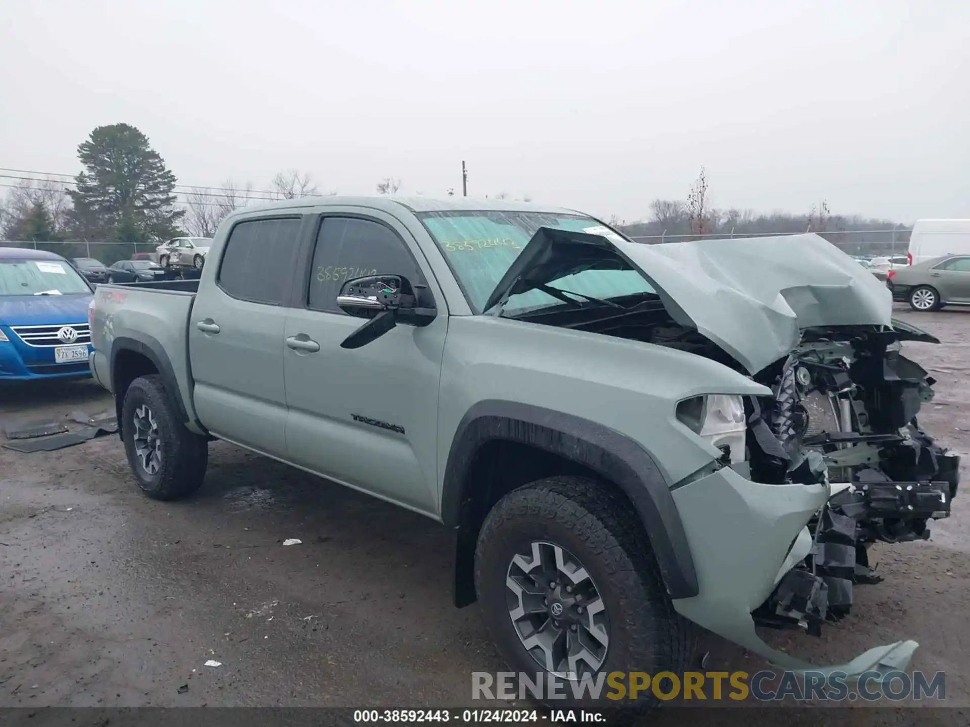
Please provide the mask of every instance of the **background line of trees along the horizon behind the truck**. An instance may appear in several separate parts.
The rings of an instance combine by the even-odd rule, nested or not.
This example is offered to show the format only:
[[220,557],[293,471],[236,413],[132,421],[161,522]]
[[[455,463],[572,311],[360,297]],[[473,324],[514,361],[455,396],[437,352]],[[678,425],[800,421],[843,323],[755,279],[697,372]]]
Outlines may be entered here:
[[[151,244],[181,235],[211,237],[219,223],[240,207],[337,194],[335,190],[321,191],[320,183],[311,174],[296,171],[275,174],[266,189],[232,179],[215,187],[179,185],[147,137],[128,124],[95,128],[79,144],[78,159],[82,171],[73,181],[4,175],[17,183],[0,201],[0,238]],[[378,194],[395,194],[401,188],[402,180],[393,176],[384,177],[375,185]],[[449,189],[447,194],[454,195],[454,190]],[[179,196],[183,199],[179,200]],[[509,199],[506,192],[492,197]],[[529,195],[519,199],[530,201]],[[895,239],[908,232],[890,220],[832,214],[824,200],[810,205],[800,215],[716,208],[710,204],[704,169],[683,200],[655,199],[647,208],[649,215],[643,221],[627,223],[614,216],[610,222],[632,237],[651,241],[666,237],[854,230],[885,231],[886,239]]]

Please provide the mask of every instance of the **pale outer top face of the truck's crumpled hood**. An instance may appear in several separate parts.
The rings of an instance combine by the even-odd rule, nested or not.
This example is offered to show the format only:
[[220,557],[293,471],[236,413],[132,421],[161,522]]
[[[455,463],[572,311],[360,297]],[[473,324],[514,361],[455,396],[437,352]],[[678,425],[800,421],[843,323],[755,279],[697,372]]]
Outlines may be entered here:
[[892,325],[886,285],[818,235],[616,244],[678,323],[751,373],[787,356],[803,329]]

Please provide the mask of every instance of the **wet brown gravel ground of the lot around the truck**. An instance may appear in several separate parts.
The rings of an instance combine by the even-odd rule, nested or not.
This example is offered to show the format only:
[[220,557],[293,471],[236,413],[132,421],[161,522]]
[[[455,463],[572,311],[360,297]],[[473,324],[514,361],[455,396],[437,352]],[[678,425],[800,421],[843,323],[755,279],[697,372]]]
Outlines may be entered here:
[[[943,340],[907,345],[938,380],[922,426],[970,452],[970,314],[898,314]],[[3,420],[111,407],[91,382],[0,389]],[[970,705],[962,494],[930,541],[875,549],[886,582],[852,616],[770,641],[823,662],[916,639],[913,668]],[[477,610],[451,605],[448,531],[222,442],[174,504],[137,490],[116,436],[0,449],[0,543],[0,706],[467,706],[470,672],[501,670]],[[764,666],[712,636],[702,650],[707,670]]]

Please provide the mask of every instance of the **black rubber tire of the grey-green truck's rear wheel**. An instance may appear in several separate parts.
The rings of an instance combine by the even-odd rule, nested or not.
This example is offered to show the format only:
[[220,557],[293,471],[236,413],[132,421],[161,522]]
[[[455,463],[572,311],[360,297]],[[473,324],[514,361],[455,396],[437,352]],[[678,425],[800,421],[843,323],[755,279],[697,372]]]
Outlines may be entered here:
[[[146,405],[161,442],[161,464],[154,474],[146,471],[135,445],[136,412]],[[146,495],[156,500],[174,500],[199,489],[209,463],[208,441],[178,421],[161,376],[140,376],[131,382],[121,405],[119,425],[128,464]]]

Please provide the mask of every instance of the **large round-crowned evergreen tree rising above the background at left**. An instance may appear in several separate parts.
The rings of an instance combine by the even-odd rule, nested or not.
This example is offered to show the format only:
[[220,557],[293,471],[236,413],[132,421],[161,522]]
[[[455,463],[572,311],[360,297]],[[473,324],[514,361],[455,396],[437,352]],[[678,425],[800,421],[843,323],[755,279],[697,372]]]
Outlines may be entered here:
[[74,227],[83,237],[148,242],[178,236],[176,176],[128,124],[99,126],[78,146]]

